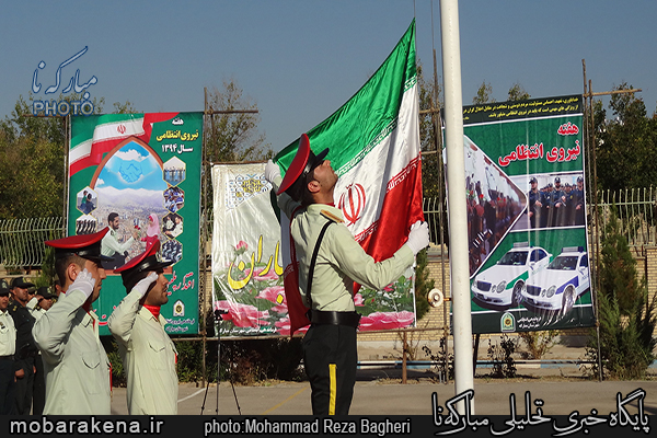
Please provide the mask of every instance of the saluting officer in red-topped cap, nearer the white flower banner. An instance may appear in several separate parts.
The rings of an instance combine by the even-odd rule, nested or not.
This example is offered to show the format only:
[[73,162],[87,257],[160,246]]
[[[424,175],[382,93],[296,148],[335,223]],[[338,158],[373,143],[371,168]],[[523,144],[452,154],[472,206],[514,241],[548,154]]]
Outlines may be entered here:
[[114,270],[120,273],[128,292],[107,321],[128,378],[128,412],[131,415],[177,414],[177,351],[164,331],[160,308],[169,301],[169,280],[160,241]]

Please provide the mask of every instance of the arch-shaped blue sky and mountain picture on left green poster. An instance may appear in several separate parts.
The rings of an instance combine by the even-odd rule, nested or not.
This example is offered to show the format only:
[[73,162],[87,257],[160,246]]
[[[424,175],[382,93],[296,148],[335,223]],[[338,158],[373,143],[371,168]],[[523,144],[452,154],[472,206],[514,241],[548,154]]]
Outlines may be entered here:
[[[94,216],[100,228],[110,226],[123,252],[113,254],[114,269],[146,250],[147,240],[166,241],[153,218],[169,211],[162,205],[168,184],[162,180],[163,163],[155,151],[137,138],[128,138],[110,151],[97,166],[90,187],[97,194]],[[149,220],[150,218],[150,220]],[[111,220],[112,219],[112,220]]]

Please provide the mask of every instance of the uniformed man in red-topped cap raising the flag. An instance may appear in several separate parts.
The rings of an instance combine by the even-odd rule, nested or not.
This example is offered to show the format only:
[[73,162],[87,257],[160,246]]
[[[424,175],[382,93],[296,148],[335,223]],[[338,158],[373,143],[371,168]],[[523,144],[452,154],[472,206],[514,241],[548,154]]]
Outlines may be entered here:
[[[299,285],[311,309],[311,325],[303,338],[303,362],[312,389],[312,412],[347,415],[356,380],[356,331],[360,320],[354,306],[354,281],[372,289],[384,288],[429,244],[429,233],[426,222],[415,223],[408,241],[392,257],[374,262],[354,240],[342,210],[334,206],[337,175],[331,161],[324,160],[327,152],[326,149],[315,155],[308,136],[302,135],[285,178],[272,160],[265,166],[265,178],[274,186],[280,209],[290,218]],[[321,233],[323,239],[310,276]]]

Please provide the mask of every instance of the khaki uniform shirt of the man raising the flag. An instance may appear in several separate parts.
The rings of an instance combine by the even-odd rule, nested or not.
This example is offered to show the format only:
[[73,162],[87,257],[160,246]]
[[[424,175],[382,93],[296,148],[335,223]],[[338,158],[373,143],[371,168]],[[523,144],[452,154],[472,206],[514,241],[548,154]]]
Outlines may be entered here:
[[[278,189],[280,182],[280,177],[274,182],[274,191]],[[351,232],[343,223],[342,210],[338,208],[313,204],[291,218],[299,204],[284,193],[278,196],[278,205],[290,218],[290,232],[299,262],[299,287],[307,306],[308,272],[319,234],[328,220],[336,222],[326,229],[318,253],[311,290],[312,307],[315,310],[354,311],[354,281],[380,290],[396,280],[413,264],[413,251],[405,244],[392,257],[374,262],[354,240]]]

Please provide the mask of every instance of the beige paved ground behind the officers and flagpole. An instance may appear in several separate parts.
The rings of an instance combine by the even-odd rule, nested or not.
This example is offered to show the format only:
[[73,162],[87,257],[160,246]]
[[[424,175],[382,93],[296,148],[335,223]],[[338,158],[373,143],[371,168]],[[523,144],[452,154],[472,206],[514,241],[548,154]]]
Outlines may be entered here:
[[[372,371],[356,383],[353,415],[431,415],[431,394],[437,394],[437,403],[445,403],[456,395],[453,382],[433,383],[425,378],[416,380],[411,372],[406,384],[391,383],[390,380],[371,380]],[[381,372],[390,377],[390,371]],[[535,400],[542,400],[546,415],[568,415],[578,411],[587,415],[597,410],[600,415],[618,411],[616,394],[621,400],[635,390],[643,390],[644,412],[657,414],[657,381],[576,381],[549,380],[545,378],[487,380],[475,379],[474,413],[476,415],[509,415],[511,394],[516,399],[516,411],[525,413],[526,393],[529,391],[531,412],[535,411]],[[638,399],[629,403],[637,407]],[[310,387],[307,382],[276,383],[267,387],[234,387],[229,383],[217,387],[198,388],[195,384],[181,384],[178,395],[180,415],[311,415]],[[114,389],[113,414],[127,414],[125,389]],[[634,411],[636,412],[636,411]]]

